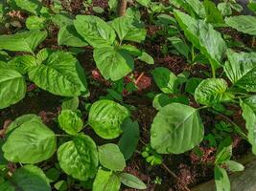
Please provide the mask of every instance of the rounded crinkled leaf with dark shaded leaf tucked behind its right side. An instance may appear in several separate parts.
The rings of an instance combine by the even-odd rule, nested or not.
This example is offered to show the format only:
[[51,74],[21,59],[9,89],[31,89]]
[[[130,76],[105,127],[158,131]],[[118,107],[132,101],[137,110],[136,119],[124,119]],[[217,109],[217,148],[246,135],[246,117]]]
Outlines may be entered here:
[[117,138],[122,133],[121,124],[129,117],[128,109],[112,100],[99,100],[92,104],[88,122],[101,138]]

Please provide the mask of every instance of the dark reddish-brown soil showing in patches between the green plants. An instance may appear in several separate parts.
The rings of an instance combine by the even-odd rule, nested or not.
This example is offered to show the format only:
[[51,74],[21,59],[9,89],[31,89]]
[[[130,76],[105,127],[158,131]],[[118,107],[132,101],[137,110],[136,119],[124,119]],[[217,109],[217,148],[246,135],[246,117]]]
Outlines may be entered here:
[[[62,0],[62,5],[66,11],[72,12],[73,14],[81,13],[84,7],[82,0]],[[47,6],[51,5],[51,1],[43,0],[43,3]],[[107,10],[106,0],[93,0],[93,6],[102,7]],[[175,54],[164,54],[162,53],[161,45],[165,41],[163,36],[154,37],[151,40],[152,35],[160,30],[159,28],[147,26],[148,38],[144,44],[140,45],[142,50],[150,53],[154,57],[154,65],[146,65],[139,61],[135,64],[135,78],[141,77],[137,82],[138,86],[141,87],[139,91],[132,93],[124,97],[124,103],[134,105],[136,110],[132,112],[132,117],[137,120],[141,130],[141,141],[138,145],[138,151],[142,151],[145,144],[150,143],[150,129],[153,117],[155,117],[157,111],[151,105],[151,99],[145,96],[147,93],[159,93],[157,86],[154,84],[151,76],[151,70],[155,67],[166,67],[169,68],[173,73],[180,74],[187,71],[191,76],[203,77],[204,74],[201,71],[210,71],[208,66],[205,65],[194,65],[191,66],[187,63],[186,59],[177,56]],[[66,49],[65,47],[58,47],[57,33],[58,29],[55,26],[50,28],[51,35],[47,40],[40,46],[51,47],[53,49]],[[229,32],[230,34],[230,32]],[[232,33],[232,36],[241,41],[245,41],[246,36],[238,33]],[[164,42],[165,43],[165,42]],[[86,112],[82,108],[84,102],[94,102],[99,99],[100,96],[106,95],[106,88],[109,88],[111,83],[105,81],[96,69],[95,63],[93,62],[92,49],[85,47],[84,52],[78,56],[81,62],[81,66],[84,68],[85,73],[88,76],[88,88],[90,90],[90,96],[86,100],[81,100],[81,111],[83,112],[83,119],[86,120]],[[31,89],[32,84],[28,85],[28,89]],[[191,104],[198,107],[195,100],[191,97]],[[61,109],[61,97],[53,96],[42,90],[33,87],[27,96],[19,103],[12,107],[0,111],[0,127],[4,125],[5,121],[20,117],[24,114],[36,114],[42,117],[47,125],[51,127],[56,126],[56,117]],[[236,113],[230,117],[231,120],[235,121],[242,128],[244,128],[244,120],[241,117],[241,111],[239,108],[235,109]],[[213,117],[209,112],[201,113],[204,121],[206,133],[210,132],[216,121],[220,118]],[[107,141],[99,138],[90,129],[84,130],[84,132],[91,136],[98,145],[101,145]],[[233,136],[234,142],[234,158],[239,159],[249,149],[248,144],[241,138]],[[141,157],[140,154],[135,153],[131,159],[128,160],[128,167],[126,171],[137,176],[141,180],[147,183],[147,191],[183,191],[186,187],[192,187],[198,183],[213,179],[213,163],[214,156],[216,153],[215,148],[207,147],[207,142],[203,141],[199,147],[202,152],[202,157],[198,156],[193,152],[187,152],[182,155],[167,155],[163,156],[163,165],[151,166]],[[167,167],[167,168],[166,168]],[[175,173],[178,179],[176,179],[172,172]],[[161,179],[161,184],[155,183],[156,178]],[[75,188],[71,189],[76,191]],[[122,190],[131,191],[127,187],[123,187]]]

